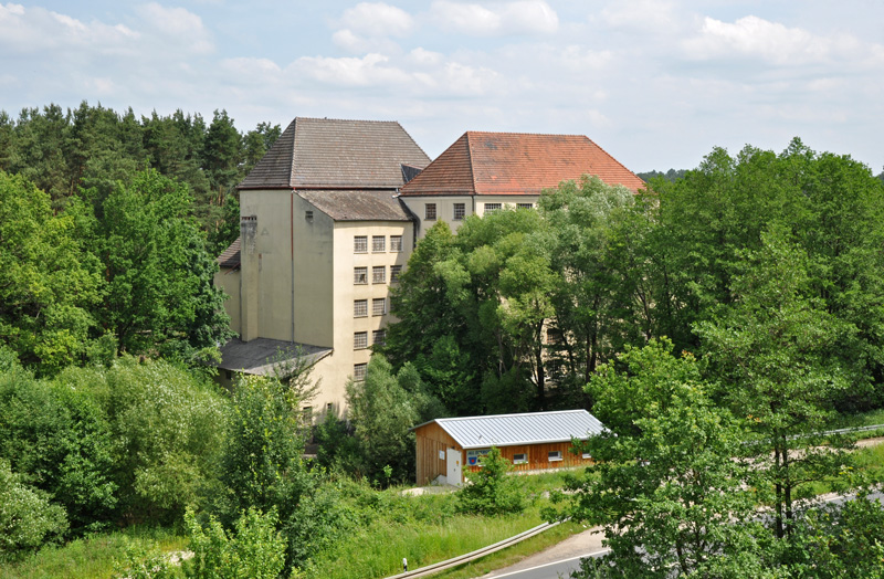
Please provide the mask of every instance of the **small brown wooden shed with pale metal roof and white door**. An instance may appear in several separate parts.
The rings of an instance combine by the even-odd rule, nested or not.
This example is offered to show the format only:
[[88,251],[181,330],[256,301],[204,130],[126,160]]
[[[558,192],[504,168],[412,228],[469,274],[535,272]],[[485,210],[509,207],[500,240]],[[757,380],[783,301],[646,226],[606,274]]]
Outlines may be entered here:
[[513,463],[514,471],[579,466],[592,459],[575,454],[571,441],[599,434],[604,425],[586,410],[440,418],[411,429],[415,434],[417,482],[440,475],[463,483],[463,470],[477,470],[492,446]]

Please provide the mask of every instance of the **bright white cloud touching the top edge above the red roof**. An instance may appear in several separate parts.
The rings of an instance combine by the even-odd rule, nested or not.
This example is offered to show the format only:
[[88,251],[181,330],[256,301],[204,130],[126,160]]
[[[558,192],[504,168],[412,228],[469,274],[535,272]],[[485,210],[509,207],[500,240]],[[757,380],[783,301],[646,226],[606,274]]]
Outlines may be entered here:
[[559,17],[545,0],[518,0],[487,4],[435,0],[431,17],[441,28],[472,36],[551,34]]

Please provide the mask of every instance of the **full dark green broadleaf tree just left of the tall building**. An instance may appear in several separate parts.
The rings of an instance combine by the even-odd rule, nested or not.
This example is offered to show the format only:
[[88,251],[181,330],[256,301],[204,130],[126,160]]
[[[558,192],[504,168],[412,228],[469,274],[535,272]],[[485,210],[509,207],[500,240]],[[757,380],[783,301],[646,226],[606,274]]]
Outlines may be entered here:
[[190,218],[187,187],[154,170],[119,183],[92,232],[105,272],[96,312],[119,351],[158,352],[194,364],[229,336],[218,265]]

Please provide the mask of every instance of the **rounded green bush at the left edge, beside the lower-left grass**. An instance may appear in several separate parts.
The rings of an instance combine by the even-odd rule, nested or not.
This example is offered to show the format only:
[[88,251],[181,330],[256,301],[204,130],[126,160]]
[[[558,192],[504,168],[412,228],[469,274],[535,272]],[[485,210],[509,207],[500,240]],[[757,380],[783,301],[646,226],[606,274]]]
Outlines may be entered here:
[[67,530],[64,508],[45,493],[22,483],[9,463],[0,460],[0,561],[14,560]]

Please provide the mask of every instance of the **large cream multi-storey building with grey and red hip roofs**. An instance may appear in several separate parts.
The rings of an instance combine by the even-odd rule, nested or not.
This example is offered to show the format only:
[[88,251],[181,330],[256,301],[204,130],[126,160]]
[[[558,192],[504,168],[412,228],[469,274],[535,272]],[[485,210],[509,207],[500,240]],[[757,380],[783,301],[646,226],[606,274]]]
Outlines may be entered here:
[[215,276],[238,334],[222,348],[222,381],[304,354],[322,380],[308,411],[340,414],[428,228],[536,207],[543,190],[585,175],[643,187],[583,136],[469,131],[430,162],[398,123],[296,118],[239,186],[241,236]]

